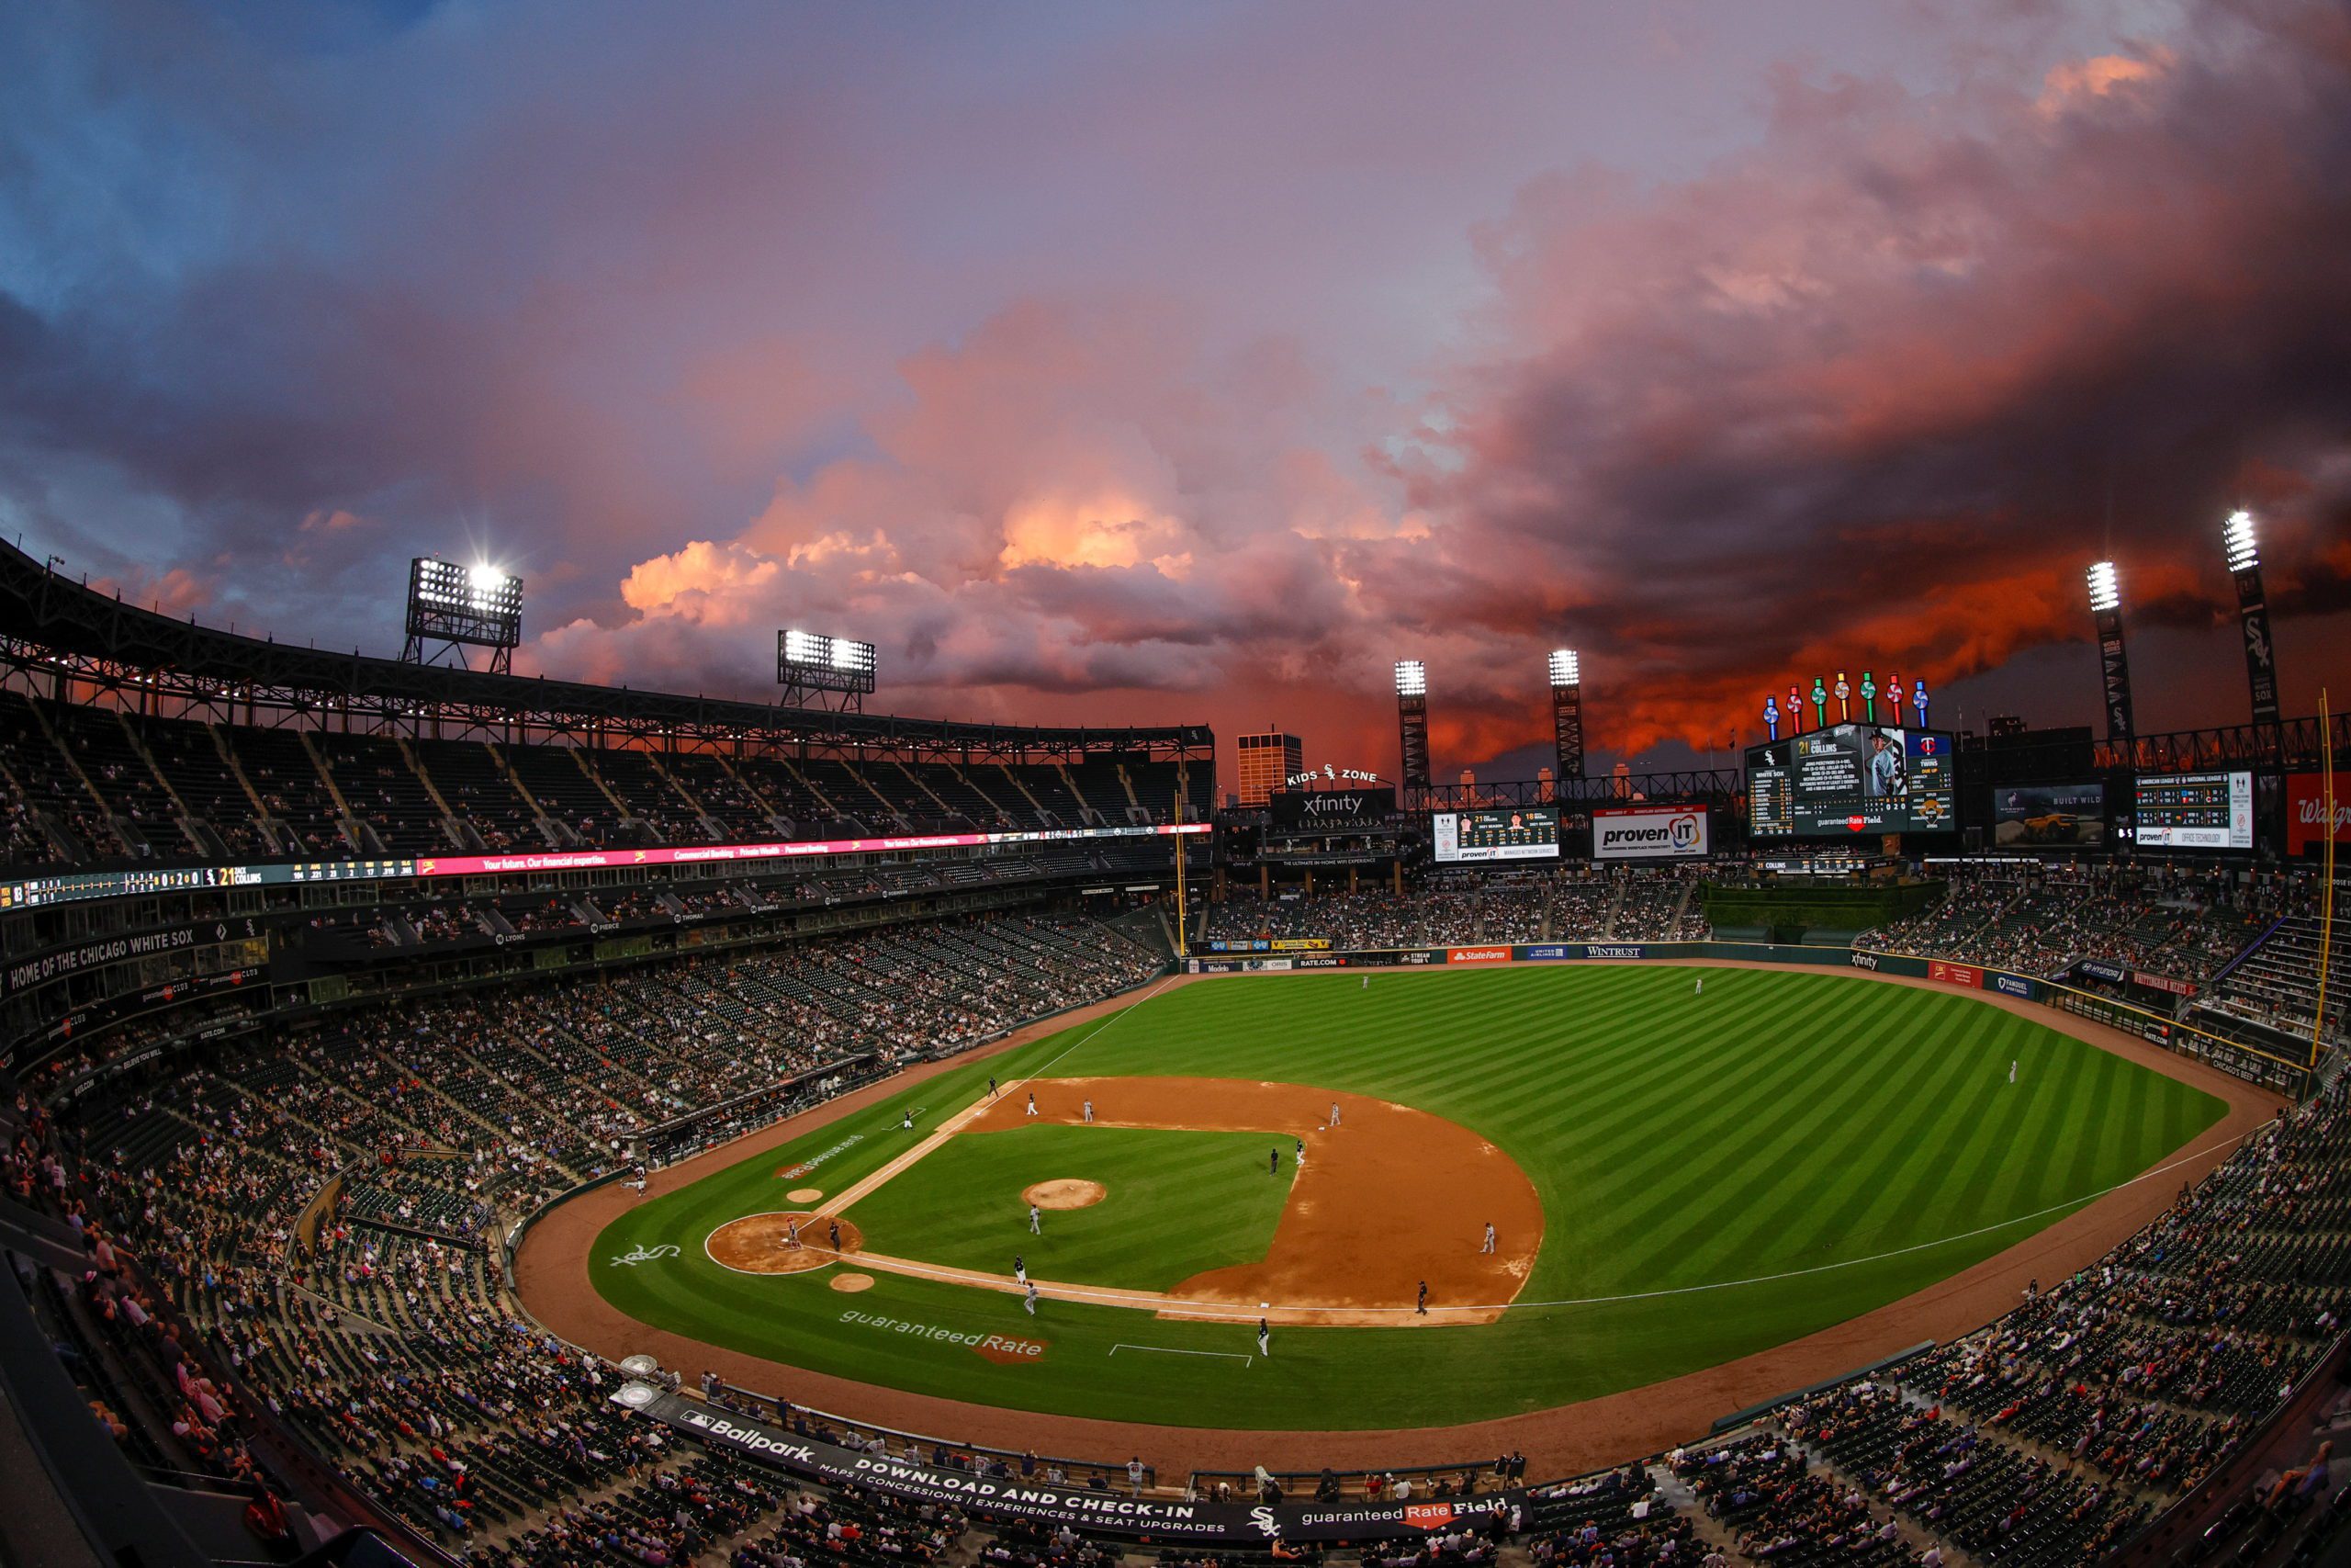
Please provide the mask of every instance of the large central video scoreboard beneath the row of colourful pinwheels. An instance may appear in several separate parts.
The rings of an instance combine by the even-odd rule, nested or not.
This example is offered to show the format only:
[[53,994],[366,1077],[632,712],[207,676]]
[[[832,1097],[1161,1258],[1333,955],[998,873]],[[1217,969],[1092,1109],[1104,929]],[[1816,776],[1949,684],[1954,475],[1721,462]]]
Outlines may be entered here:
[[1944,731],[1831,724],[1747,748],[1747,832],[1759,839],[1949,832],[1954,820]]

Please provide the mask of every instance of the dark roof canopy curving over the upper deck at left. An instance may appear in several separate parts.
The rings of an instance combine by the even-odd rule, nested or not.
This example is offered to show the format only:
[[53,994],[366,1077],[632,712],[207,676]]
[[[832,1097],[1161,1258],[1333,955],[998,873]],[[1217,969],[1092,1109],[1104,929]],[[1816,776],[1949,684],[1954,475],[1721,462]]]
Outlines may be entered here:
[[223,632],[125,604],[0,541],[0,668],[134,701],[143,712],[221,719],[331,717],[339,726],[426,736],[569,736],[600,745],[731,745],[915,757],[1143,752],[1213,757],[1206,724],[1025,726],[818,712],[529,675],[489,675],[270,637]]

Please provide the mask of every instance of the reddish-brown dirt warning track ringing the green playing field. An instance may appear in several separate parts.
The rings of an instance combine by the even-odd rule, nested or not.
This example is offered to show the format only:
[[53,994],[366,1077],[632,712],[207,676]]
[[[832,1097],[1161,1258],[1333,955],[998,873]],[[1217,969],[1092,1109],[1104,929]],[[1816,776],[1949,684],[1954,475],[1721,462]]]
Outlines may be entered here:
[[[1702,959],[1679,964],[1686,969],[1768,969],[1768,964],[1740,964],[1733,959]],[[1380,985],[1415,985],[1446,969],[1394,969],[1380,971]],[[1831,971],[1848,973],[1848,971]],[[1902,976],[1862,976],[1874,985],[1909,985],[1916,990],[1949,992],[1947,985],[1911,980]],[[1319,971],[1274,976],[1185,976],[1173,985],[1225,985],[1225,983],[1302,983],[1319,978]],[[2217,1166],[2236,1140],[2269,1121],[2278,1110],[2278,1095],[2245,1084],[2224,1072],[2149,1046],[2142,1039],[2076,1018],[2057,1009],[2017,1001],[1996,992],[1968,992],[1984,1006],[1998,1006],[2043,1023],[2059,1034],[2071,1034],[2092,1046],[2111,1051],[2165,1077],[2193,1084],[2229,1103],[2229,1114],[2219,1126],[2205,1128],[2196,1140],[2201,1154],[2156,1180],[2118,1187],[2090,1206],[2024,1237],[2015,1246],[1984,1262],[1928,1286],[1916,1295],[1888,1302],[1874,1312],[1848,1319],[1820,1333],[1810,1333],[1787,1345],[1740,1356],[1697,1373],[1653,1382],[1641,1389],[1603,1394],[1585,1403],[1507,1415],[1500,1420],[1462,1422],[1453,1427],[1420,1427],[1413,1432],[1324,1432],[1324,1429],[1267,1429],[1227,1432],[1211,1427],[1159,1427],[1147,1422],[1093,1420],[1079,1415],[1046,1415],[1039,1410],[1009,1410],[1002,1406],[971,1403],[966,1399],[940,1399],[936,1394],[912,1394],[856,1378],[835,1378],[806,1368],[769,1361],[734,1349],[722,1349],[703,1340],[691,1340],[665,1328],[651,1328],[628,1316],[602,1295],[590,1281],[592,1246],[597,1234],[632,1206],[677,1192],[712,1171],[722,1171],[748,1154],[783,1147],[806,1133],[830,1126],[877,1100],[886,1100],[910,1084],[947,1072],[962,1063],[1011,1051],[1032,1039],[1058,1034],[1060,1030],[1119,1013],[1145,994],[1143,990],[1112,1001],[1103,1001],[1077,1013],[1063,1013],[1041,1025],[1032,1025],[1011,1039],[952,1063],[926,1063],[907,1074],[870,1084],[837,1100],[811,1107],[788,1121],[745,1133],[734,1143],[717,1145],[677,1166],[654,1171],[649,1192],[639,1197],[621,1182],[583,1192],[550,1208],[524,1237],[515,1258],[515,1286],[522,1305],[552,1333],[618,1361],[637,1352],[658,1356],[663,1366],[694,1375],[703,1368],[719,1373],[729,1382],[766,1394],[783,1394],[818,1410],[835,1410],[851,1420],[875,1422],[900,1432],[926,1432],[962,1443],[987,1443],[1020,1453],[1074,1453],[1117,1458],[1140,1453],[1161,1474],[1187,1474],[1192,1469],[1248,1469],[1265,1462],[1281,1469],[1394,1469],[1399,1465],[1460,1465],[1479,1455],[1523,1450],[1531,1472],[1538,1476],[1573,1476],[1603,1465],[1641,1460],[1665,1453],[1674,1443],[1693,1441],[1707,1432],[1707,1422],[1730,1410],[1777,1399],[1791,1389],[1822,1378],[1836,1378],[1878,1356],[1907,1349],[1918,1340],[1951,1340],[1980,1328],[2008,1312],[2022,1295],[2029,1279],[2064,1279],[2074,1269],[2088,1267],[2116,1241],[2163,1213],[2182,1185],[2201,1180]],[[2177,1154],[2158,1164],[2170,1166]],[[860,1260],[863,1262],[863,1260]],[[1735,1302],[1723,1305],[1735,1312]]]

